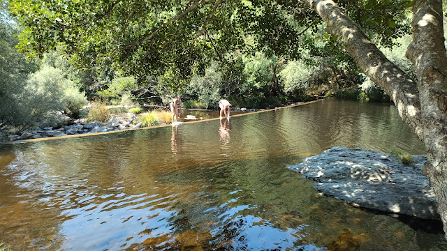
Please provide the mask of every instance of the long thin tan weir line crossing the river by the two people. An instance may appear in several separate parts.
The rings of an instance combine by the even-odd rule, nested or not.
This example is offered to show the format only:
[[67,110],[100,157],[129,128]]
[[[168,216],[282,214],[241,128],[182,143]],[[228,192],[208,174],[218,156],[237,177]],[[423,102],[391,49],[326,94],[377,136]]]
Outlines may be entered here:
[[[312,104],[314,102],[320,102],[322,100],[324,100],[324,99],[313,100],[313,101],[309,101],[309,102],[303,102],[303,103],[295,104],[295,105],[288,105],[288,106],[280,107],[280,108],[264,109],[264,110],[256,111],[256,112],[247,112],[247,113],[243,113],[243,114],[235,114],[235,115],[232,115],[231,117],[233,118],[233,117],[237,117],[237,116],[246,116],[246,115],[257,114],[257,113],[261,113],[261,112],[272,112],[272,111],[277,111],[277,110],[280,110],[280,109],[285,109],[285,108],[290,108],[290,107],[297,107],[297,106],[301,106],[301,105],[309,105],[309,104]],[[201,120],[196,120],[196,121],[186,121],[186,122],[182,122],[182,124],[200,123],[200,122],[214,121],[214,120],[219,120],[219,117],[212,118],[212,119],[201,119]],[[167,126],[172,126],[172,124],[166,124],[166,125],[161,125],[161,126],[148,126],[148,127],[145,127],[145,128],[117,130],[117,131],[110,131],[110,132],[93,132],[93,133],[84,133],[84,134],[78,134],[78,135],[59,136],[59,137],[45,137],[45,138],[39,138],[39,139],[24,139],[24,140],[17,140],[15,142],[40,142],[40,141],[45,141],[45,140],[68,139],[68,138],[73,138],[73,137],[87,137],[87,136],[96,136],[96,135],[107,135],[107,134],[110,134],[110,133],[129,132],[129,131],[133,131],[133,130],[147,130],[147,129],[152,129],[152,128],[163,128],[163,127],[167,127]],[[11,143],[13,143],[13,142],[2,142],[0,144],[11,144]]]

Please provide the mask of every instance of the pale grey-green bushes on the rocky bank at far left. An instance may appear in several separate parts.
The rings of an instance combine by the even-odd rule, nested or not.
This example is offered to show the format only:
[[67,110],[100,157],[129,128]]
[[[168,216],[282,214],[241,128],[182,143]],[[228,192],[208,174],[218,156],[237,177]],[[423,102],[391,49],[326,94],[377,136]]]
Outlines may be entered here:
[[20,26],[10,18],[6,4],[0,13],[0,129],[22,131],[54,119],[55,111],[76,116],[87,103],[75,83],[57,68],[27,61],[15,50]]

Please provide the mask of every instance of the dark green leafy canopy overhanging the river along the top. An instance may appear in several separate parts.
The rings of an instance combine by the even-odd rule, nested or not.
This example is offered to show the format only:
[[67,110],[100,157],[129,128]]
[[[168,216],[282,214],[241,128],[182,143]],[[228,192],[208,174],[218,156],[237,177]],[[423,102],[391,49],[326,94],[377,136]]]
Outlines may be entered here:
[[[342,0],[339,6],[369,38],[390,46],[410,31],[405,11],[412,1],[399,2]],[[302,1],[12,0],[10,8],[26,27],[22,52],[43,56],[63,45],[78,66],[111,62],[139,82],[154,75],[179,82],[203,72],[207,61],[231,65],[234,51],[299,59],[318,39],[340,50],[337,36],[305,33],[317,31],[322,20]]]

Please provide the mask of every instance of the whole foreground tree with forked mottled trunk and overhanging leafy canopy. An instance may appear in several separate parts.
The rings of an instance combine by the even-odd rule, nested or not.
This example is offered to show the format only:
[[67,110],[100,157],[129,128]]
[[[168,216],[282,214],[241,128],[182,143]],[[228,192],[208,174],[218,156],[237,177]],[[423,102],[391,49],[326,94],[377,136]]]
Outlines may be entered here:
[[[393,46],[409,32],[407,56],[418,81],[391,63],[376,45]],[[240,50],[300,56],[314,39],[303,34],[323,23],[357,66],[395,102],[402,119],[425,142],[425,173],[436,192],[447,233],[447,54],[441,0],[13,0],[27,26],[22,50],[42,54],[64,44],[80,65],[112,61],[140,80],[150,75],[187,78],[204,61],[228,64]],[[247,38],[253,39],[249,43]]]

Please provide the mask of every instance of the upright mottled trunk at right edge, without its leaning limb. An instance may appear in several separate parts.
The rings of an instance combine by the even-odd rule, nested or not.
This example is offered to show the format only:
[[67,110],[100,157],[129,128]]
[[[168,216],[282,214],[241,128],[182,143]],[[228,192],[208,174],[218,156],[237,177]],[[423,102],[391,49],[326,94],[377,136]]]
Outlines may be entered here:
[[442,1],[416,1],[411,26],[413,42],[406,56],[413,62],[419,80],[423,140],[428,153],[424,171],[437,195],[447,238],[447,54]]

